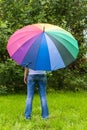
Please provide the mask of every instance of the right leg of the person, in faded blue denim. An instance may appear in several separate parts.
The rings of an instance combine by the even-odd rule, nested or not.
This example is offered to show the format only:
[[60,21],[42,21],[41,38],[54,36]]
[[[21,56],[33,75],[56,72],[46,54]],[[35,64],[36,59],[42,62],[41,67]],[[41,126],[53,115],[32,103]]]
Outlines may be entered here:
[[39,94],[41,99],[41,108],[42,108],[42,117],[48,118],[49,112],[48,112],[48,105],[47,105],[47,99],[46,99],[46,83],[47,78],[45,75],[41,75],[39,77]]

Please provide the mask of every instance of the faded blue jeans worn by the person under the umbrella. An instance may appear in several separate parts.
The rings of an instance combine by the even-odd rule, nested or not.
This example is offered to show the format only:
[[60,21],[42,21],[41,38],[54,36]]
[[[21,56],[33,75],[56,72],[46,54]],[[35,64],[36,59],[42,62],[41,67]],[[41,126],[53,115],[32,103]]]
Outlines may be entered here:
[[41,100],[42,117],[48,118],[49,112],[48,112],[48,105],[47,105],[47,100],[46,100],[47,78],[45,74],[28,75],[25,117],[26,118],[31,117],[32,101],[34,97],[35,84],[37,82],[39,85],[39,95],[40,95],[40,100]]

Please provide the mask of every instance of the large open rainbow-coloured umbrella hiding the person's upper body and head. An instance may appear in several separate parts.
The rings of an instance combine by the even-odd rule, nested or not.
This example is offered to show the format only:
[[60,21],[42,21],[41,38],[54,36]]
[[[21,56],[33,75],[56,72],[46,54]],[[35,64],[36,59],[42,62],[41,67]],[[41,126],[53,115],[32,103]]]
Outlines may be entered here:
[[47,23],[27,25],[14,32],[7,50],[19,65],[48,71],[68,66],[79,52],[71,33]]

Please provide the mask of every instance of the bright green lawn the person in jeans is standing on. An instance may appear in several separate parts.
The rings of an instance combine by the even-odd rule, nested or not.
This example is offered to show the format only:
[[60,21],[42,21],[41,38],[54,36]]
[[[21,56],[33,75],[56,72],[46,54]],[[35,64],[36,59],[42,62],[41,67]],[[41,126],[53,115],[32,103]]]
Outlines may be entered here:
[[0,96],[0,130],[87,130],[87,93],[48,93],[50,118],[41,118],[40,99],[33,100],[32,119],[24,119],[26,95]]

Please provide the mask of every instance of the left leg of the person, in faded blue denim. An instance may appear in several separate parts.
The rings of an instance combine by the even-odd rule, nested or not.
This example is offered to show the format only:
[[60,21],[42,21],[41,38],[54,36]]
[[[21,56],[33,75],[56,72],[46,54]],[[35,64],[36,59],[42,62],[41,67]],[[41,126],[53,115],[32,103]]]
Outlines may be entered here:
[[33,80],[33,76],[29,75],[27,81],[27,100],[26,100],[26,109],[25,109],[26,118],[31,117],[34,88],[35,88],[35,81]]

